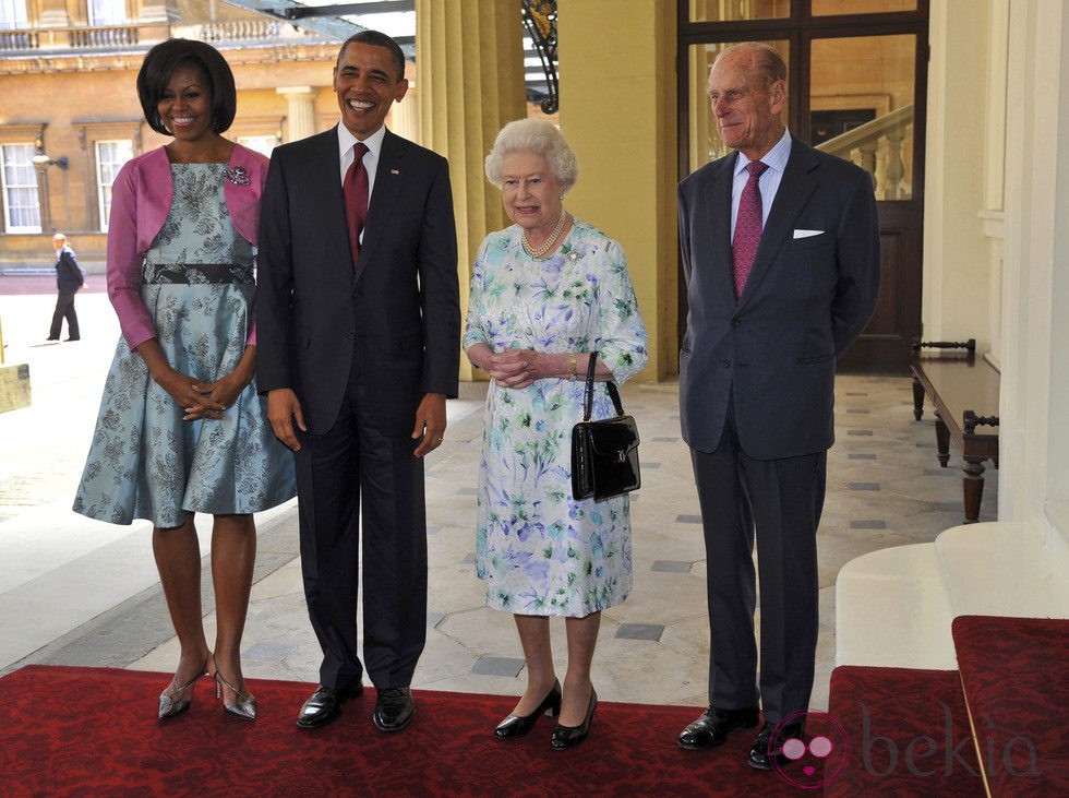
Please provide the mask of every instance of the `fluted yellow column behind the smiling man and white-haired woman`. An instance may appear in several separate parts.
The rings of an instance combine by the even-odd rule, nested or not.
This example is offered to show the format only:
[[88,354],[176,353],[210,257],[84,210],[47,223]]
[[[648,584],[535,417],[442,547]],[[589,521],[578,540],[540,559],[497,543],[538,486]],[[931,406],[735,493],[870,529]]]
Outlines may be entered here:
[[[511,224],[483,158],[505,122],[527,116],[523,36],[519,3],[416,0],[419,140],[449,159],[461,312],[479,243]],[[460,378],[472,379],[467,358]]]

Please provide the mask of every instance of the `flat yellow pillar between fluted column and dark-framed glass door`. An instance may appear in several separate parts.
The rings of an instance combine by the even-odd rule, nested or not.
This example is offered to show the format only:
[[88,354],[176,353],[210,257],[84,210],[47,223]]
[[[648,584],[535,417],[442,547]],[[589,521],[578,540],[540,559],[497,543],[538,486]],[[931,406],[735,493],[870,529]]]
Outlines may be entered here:
[[675,3],[560,9],[561,130],[579,159],[566,204],[623,245],[649,333],[639,379],[657,380],[678,368]]

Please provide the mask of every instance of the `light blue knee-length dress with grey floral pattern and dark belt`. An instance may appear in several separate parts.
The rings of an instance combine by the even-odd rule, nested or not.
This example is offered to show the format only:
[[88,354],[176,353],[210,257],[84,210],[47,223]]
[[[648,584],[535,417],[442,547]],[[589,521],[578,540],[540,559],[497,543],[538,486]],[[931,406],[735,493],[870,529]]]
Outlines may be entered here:
[[[175,199],[142,266],[141,298],[167,362],[212,382],[245,349],[253,250],[224,196],[226,164],[172,164]],[[119,340],[74,511],[112,524],[180,526],[185,512],[266,510],[296,493],[292,454],[275,438],[253,381],[219,420],[183,421],[141,355]]]

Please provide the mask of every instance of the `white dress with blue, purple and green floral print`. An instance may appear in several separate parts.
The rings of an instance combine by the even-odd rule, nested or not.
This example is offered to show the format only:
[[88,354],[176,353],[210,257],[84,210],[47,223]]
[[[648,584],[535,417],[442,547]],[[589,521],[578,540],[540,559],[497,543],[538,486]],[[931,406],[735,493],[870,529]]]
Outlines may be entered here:
[[[483,343],[546,353],[599,352],[617,384],[646,366],[646,327],[624,251],[578,219],[546,260],[529,257],[517,225],[476,257],[464,348]],[[487,393],[479,471],[476,573],[487,604],[519,615],[581,618],[632,587],[628,497],[572,498],[572,427],[581,379],[538,380]],[[596,383],[594,418],[615,415]]]

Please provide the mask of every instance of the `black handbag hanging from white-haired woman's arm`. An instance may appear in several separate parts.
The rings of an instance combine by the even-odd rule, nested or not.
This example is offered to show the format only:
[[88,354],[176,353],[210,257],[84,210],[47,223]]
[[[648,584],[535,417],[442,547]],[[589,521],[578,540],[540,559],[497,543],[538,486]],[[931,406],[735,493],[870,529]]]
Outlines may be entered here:
[[593,408],[593,372],[598,353],[590,354],[582,420],[572,428],[572,496],[575,499],[604,501],[637,490],[642,485],[638,473],[638,425],[624,415],[620,391],[606,382],[609,397],[616,408],[615,418],[590,420]]

